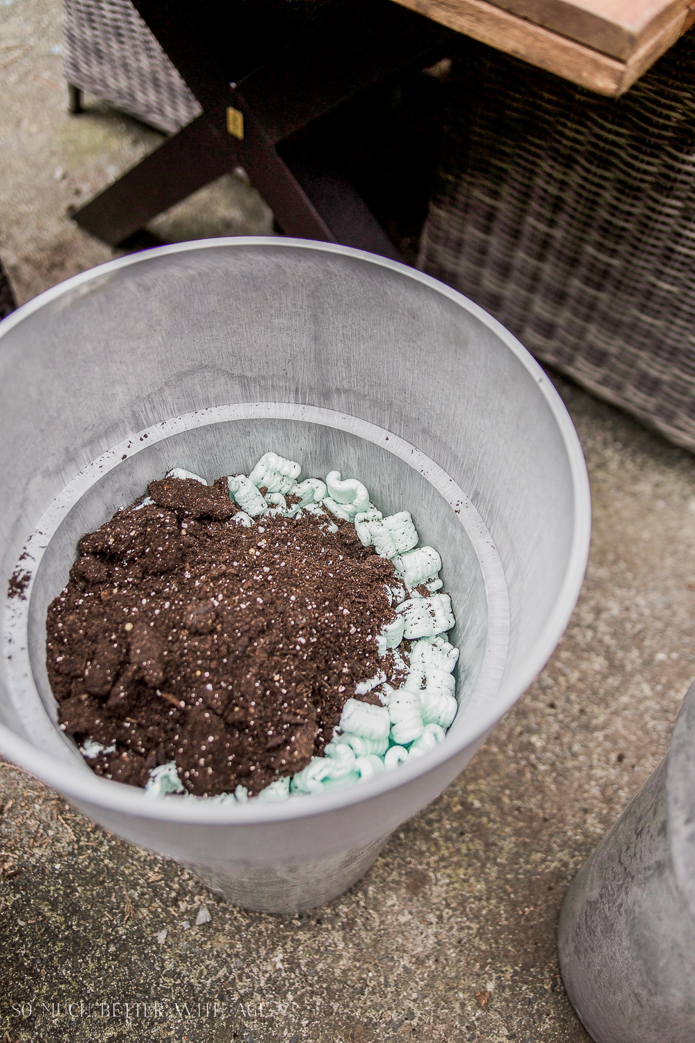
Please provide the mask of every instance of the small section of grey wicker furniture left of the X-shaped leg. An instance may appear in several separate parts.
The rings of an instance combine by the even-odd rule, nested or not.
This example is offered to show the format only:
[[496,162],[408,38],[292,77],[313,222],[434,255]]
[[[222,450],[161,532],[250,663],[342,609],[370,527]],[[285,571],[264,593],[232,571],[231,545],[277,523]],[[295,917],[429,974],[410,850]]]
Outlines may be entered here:
[[65,74],[168,132],[201,112],[130,0],[65,0]]

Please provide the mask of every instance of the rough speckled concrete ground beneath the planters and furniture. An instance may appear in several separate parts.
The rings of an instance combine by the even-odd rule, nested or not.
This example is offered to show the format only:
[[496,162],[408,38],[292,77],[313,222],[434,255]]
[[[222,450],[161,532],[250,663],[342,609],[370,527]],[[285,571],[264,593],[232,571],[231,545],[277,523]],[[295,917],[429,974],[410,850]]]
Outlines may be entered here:
[[[65,208],[160,140],[94,99],[67,116],[59,44],[57,0],[0,0],[0,256],[20,301],[114,256]],[[271,217],[229,175],[156,232],[269,234]],[[301,917],[235,909],[0,761],[4,1043],[589,1039],[557,913],[695,675],[695,460],[554,380],[593,491],[577,608],[467,771],[348,894]]]

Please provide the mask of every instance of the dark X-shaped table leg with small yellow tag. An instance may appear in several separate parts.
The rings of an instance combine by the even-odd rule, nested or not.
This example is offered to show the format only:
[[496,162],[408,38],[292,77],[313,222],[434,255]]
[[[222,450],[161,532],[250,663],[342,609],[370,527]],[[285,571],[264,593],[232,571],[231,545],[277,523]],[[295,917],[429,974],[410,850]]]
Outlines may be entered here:
[[[163,7],[150,0],[134,2],[204,112],[77,211],[73,216],[81,227],[118,244],[164,210],[241,165],[287,235],[397,256],[344,176],[325,169],[316,156],[302,155],[300,146],[292,146],[286,162],[275,146],[394,70],[431,58],[443,39],[441,27],[394,4],[379,6],[377,0],[369,33],[361,35],[354,19],[345,26],[347,41],[340,33],[336,39],[334,25],[323,34],[308,33],[297,47],[246,76],[234,91],[235,84],[229,84],[207,56],[201,62],[196,16],[188,4],[172,0]],[[229,105],[244,114],[241,139],[227,130]]]

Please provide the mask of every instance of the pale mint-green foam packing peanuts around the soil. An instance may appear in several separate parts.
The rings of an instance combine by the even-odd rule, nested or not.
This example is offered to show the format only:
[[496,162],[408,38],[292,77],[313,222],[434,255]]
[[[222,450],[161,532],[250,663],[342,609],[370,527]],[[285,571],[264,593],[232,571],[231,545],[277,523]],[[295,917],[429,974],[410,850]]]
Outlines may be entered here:
[[[445,729],[458,709],[451,676],[458,649],[442,636],[455,623],[451,599],[433,592],[442,586],[440,555],[435,548],[417,547],[419,536],[409,511],[384,517],[357,479],[343,480],[340,471],[331,470],[325,482],[317,478],[298,482],[300,470],[297,462],[266,453],[248,477],[230,476],[229,495],[242,509],[231,520],[248,528],[267,514],[299,517],[302,511],[307,511],[322,515],[325,522],[321,524],[331,532],[338,531],[331,515],[352,523],[363,547],[373,545],[396,568],[397,582],[386,584],[396,617],[384,626],[376,641],[380,655],[396,656],[407,674],[399,688],[386,683],[383,672],[356,683],[355,695],[375,690],[384,705],[347,699],[324,755],[313,757],[302,771],[292,777],[279,777],[256,798],[251,798],[259,801],[286,801],[351,786],[361,779],[394,770],[413,757],[424,756],[443,742]],[[167,477],[192,478],[207,484],[181,468],[173,468]],[[292,502],[288,503],[287,498],[292,498]],[[422,585],[427,587],[429,596],[423,597],[416,589]],[[415,642],[409,653],[401,648],[403,639]],[[89,752],[86,747],[82,752],[85,756],[93,755],[91,747]],[[201,799],[183,792],[173,761],[152,769],[146,793],[150,797],[178,794],[189,800]],[[249,797],[246,789],[238,785],[233,794],[206,799],[246,803]]]

